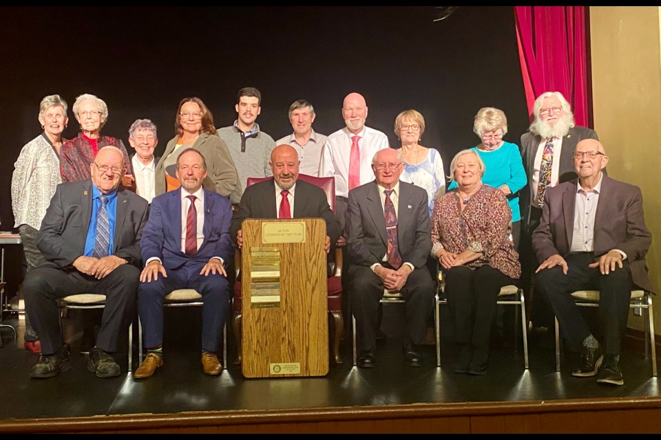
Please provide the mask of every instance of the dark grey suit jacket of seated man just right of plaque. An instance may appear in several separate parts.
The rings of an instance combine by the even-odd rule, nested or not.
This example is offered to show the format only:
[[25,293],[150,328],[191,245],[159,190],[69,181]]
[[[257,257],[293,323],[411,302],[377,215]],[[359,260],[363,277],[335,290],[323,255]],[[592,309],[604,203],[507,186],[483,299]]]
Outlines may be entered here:
[[[411,263],[417,269],[426,265],[432,250],[427,197],[423,188],[399,181],[397,243],[402,262]],[[376,181],[349,191],[346,238],[351,264],[371,266],[383,262],[388,239]]]

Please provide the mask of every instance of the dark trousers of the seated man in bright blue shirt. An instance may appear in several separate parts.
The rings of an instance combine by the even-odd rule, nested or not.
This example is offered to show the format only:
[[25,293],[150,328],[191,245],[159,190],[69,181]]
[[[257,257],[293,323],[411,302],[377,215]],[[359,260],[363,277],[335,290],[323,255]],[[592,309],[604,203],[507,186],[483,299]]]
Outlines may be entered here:
[[136,311],[140,270],[120,265],[108,276],[97,280],[77,270],[37,267],[23,280],[25,311],[39,335],[41,353],[56,353],[64,343],[57,300],[75,294],[103,294],[105,307],[96,347],[109,353],[118,350],[119,339],[128,330]]

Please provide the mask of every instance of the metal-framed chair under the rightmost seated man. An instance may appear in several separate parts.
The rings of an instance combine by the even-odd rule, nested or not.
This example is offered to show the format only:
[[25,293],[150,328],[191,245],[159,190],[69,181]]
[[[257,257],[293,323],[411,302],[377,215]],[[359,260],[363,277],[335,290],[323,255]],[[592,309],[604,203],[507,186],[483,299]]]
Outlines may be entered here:
[[[571,296],[574,297],[574,303],[579,307],[599,307],[599,291],[598,290],[577,290]],[[632,290],[631,300],[629,301],[631,309],[644,309],[645,320],[645,360],[649,359],[649,352],[647,349],[647,340],[650,340],[650,347],[652,350],[652,375],[656,377],[656,342],[654,337],[654,310],[652,307],[652,294],[645,290]],[[558,318],[556,320],[556,371],[560,371],[560,324]]]

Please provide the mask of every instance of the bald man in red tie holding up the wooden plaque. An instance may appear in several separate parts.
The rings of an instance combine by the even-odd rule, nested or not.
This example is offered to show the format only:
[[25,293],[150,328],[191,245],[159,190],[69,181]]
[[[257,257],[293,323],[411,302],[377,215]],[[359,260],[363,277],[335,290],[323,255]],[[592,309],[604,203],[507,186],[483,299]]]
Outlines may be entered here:
[[[330,243],[339,238],[339,222],[328,206],[322,188],[298,179],[300,161],[291,145],[281,144],[271,151],[273,179],[248,186],[241,196],[230,228],[238,248],[243,245],[241,222],[244,219],[322,217],[326,220],[326,254]],[[283,195],[284,192],[284,195]],[[283,203],[283,198],[286,197]]]

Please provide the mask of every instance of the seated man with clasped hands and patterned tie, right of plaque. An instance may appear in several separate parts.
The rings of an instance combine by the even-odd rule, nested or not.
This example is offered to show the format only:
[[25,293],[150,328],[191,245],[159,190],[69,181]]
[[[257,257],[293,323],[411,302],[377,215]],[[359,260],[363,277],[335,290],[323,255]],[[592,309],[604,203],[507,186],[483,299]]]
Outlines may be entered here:
[[414,344],[424,344],[432,312],[434,282],[426,267],[432,249],[427,192],[399,181],[397,150],[385,148],[372,160],[376,179],[349,191],[346,217],[350,256],[348,283],[356,318],[358,366],[375,366],[379,300],[384,289],[406,300],[406,365],[421,366]]

